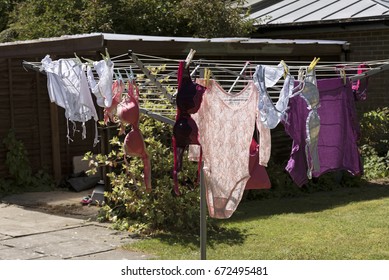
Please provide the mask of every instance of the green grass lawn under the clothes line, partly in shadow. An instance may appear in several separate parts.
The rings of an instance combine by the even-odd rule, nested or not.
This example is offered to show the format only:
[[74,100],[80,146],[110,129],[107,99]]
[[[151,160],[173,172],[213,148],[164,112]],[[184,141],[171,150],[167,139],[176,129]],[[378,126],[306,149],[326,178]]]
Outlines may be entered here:
[[[208,232],[207,259],[387,260],[389,185],[243,201]],[[156,259],[198,260],[198,233],[164,233],[125,246]]]

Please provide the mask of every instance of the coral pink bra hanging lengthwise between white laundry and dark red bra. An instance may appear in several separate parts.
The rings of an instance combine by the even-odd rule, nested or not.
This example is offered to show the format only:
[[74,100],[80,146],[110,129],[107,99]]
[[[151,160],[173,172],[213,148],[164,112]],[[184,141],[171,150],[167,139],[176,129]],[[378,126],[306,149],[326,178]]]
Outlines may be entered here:
[[[137,94],[136,96],[134,91]],[[132,130],[127,133],[124,139],[124,161],[127,164],[127,156],[137,156],[142,158],[146,191],[150,192],[151,164],[142,133],[139,129],[138,89],[135,81],[128,82],[128,96],[118,104],[117,113],[122,123],[127,123],[132,126]],[[122,131],[124,131],[124,129],[122,129]]]

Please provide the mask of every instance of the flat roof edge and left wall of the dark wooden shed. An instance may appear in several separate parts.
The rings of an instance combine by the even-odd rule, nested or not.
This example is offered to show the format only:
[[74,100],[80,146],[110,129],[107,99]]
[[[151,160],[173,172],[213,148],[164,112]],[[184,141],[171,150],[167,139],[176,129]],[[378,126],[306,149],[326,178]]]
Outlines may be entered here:
[[[102,152],[103,145],[93,148],[93,133],[72,142],[66,138],[66,119],[62,108],[50,103],[45,75],[23,68],[23,61],[39,62],[49,54],[53,59],[77,56],[101,59],[108,49],[111,56],[132,50],[137,53],[184,59],[190,49],[196,57],[239,60],[344,61],[346,41],[308,39],[253,38],[182,38],[125,34],[81,34],[0,44],[0,139],[10,129],[15,131],[28,152],[34,171],[44,168],[58,180],[73,171],[74,156],[85,152]],[[98,112],[102,117],[102,110]],[[93,124],[87,123],[88,127]],[[93,128],[91,128],[93,129]],[[104,131],[101,131],[104,138]],[[101,141],[104,142],[104,141]],[[106,143],[105,143],[106,144]],[[7,176],[6,150],[0,145],[0,175]]]

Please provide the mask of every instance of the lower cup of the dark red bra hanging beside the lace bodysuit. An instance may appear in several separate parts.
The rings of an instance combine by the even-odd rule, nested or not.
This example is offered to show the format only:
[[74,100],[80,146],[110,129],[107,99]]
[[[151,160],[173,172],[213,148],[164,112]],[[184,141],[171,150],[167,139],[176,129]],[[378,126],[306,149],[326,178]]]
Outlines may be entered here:
[[196,122],[190,116],[181,116],[173,127],[177,147],[186,147],[190,144],[200,145],[198,132]]

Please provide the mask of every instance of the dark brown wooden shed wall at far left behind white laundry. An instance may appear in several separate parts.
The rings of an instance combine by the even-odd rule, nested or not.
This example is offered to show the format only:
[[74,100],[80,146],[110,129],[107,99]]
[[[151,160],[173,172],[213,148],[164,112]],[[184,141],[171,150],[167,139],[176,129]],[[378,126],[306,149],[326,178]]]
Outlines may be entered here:
[[[76,132],[74,136],[71,133],[73,141],[68,143],[64,109],[50,102],[46,76],[36,71],[26,71],[22,67],[23,60],[36,59],[0,59],[0,176],[9,175],[3,139],[10,129],[23,142],[34,172],[43,169],[54,174],[54,162],[60,160],[57,163],[60,166],[59,175],[72,173],[73,156],[93,150],[94,124],[87,122],[86,139],[81,139],[81,132]],[[71,124],[69,127],[72,131]],[[80,126],[77,129],[81,131]],[[59,145],[53,142],[55,133],[58,133],[56,139]],[[97,146],[94,151],[98,149]],[[59,157],[53,157],[53,150],[58,151]]]

